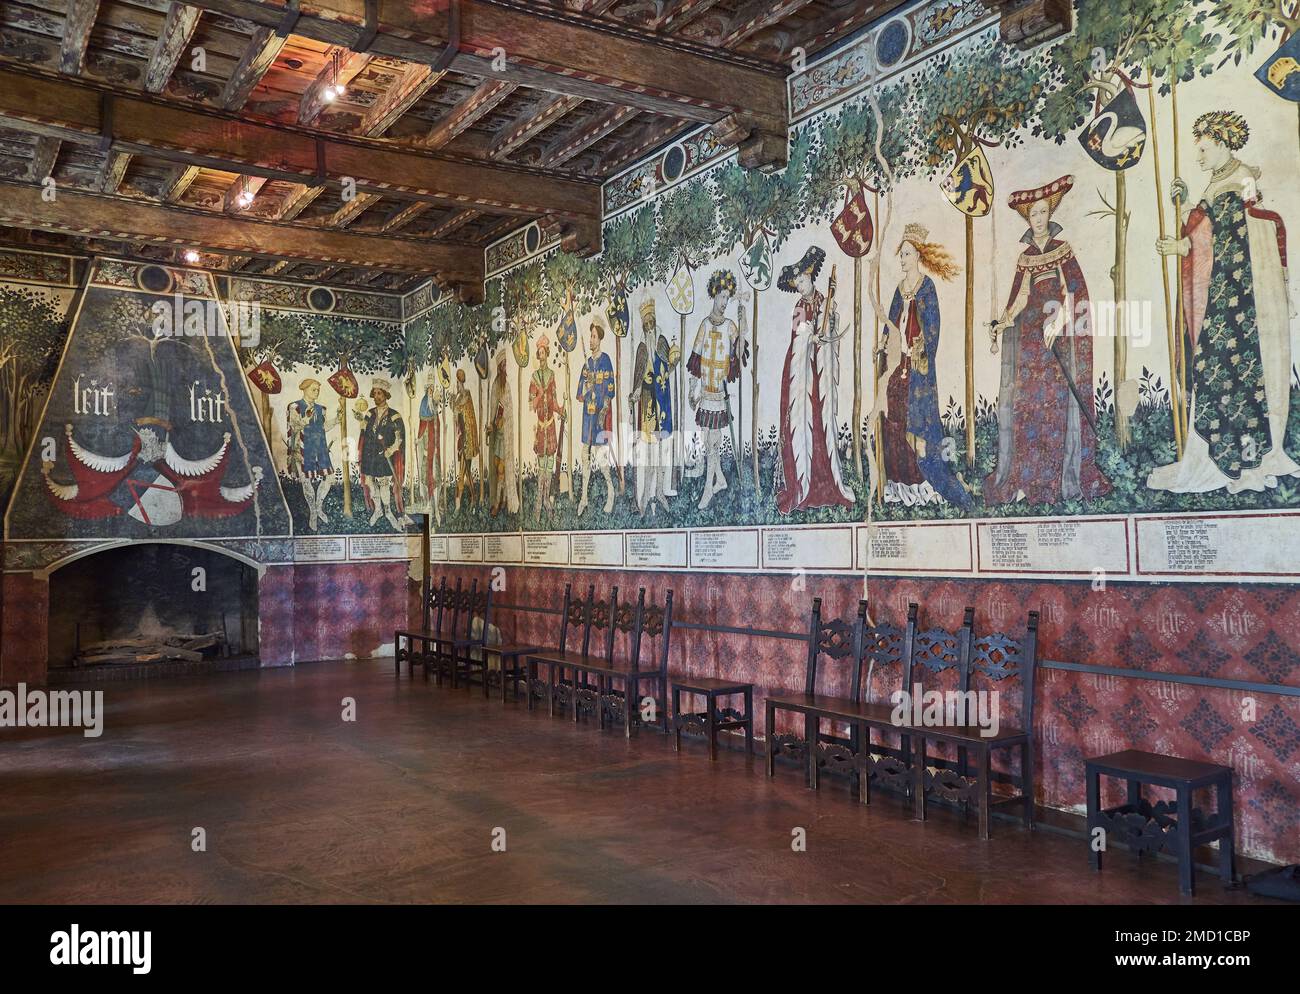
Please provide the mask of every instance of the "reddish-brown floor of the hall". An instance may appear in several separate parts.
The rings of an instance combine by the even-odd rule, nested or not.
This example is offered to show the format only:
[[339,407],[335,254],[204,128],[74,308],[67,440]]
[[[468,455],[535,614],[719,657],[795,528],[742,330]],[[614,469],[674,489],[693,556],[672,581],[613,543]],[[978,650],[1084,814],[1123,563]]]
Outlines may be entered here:
[[[99,739],[0,732],[3,903],[1179,900],[1170,863],[1097,874],[1080,839],[997,821],[982,843],[945,811],[922,825],[890,796],[862,808],[841,782],[628,743],[391,660],[103,689]],[[1249,898],[1204,878],[1196,900]]]

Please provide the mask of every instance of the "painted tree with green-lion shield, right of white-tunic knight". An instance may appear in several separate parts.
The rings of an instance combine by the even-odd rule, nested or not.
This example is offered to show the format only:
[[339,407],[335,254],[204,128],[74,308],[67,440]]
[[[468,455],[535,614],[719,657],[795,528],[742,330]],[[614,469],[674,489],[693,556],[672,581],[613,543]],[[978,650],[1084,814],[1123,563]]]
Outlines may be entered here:
[[[728,252],[740,246],[746,261],[741,269],[750,270],[748,278],[754,288],[754,313],[750,327],[750,348],[753,351],[750,438],[754,447],[751,468],[755,498],[762,491],[758,473],[758,303],[762,291],[772,285],[772,260],[776,253],[781,251],[790,234],[807,221],[802,199],[809,182],[810,144],[810,129],[801,127],[790,140],[789,164],[780,173],[767,174],[757,169],[742,169],[736,160],[732,160],[714,175],[719,201],[720,236],[718,249]],[[755,269],[758,272],[754,272]],[[744,331],[744,329],[741,330]],[[854,330],[854,335],[857,334]],[[854,356],[854,369],[857,368],[858,359]],[[741,452],[736,453],[737,466],[741,455]]]

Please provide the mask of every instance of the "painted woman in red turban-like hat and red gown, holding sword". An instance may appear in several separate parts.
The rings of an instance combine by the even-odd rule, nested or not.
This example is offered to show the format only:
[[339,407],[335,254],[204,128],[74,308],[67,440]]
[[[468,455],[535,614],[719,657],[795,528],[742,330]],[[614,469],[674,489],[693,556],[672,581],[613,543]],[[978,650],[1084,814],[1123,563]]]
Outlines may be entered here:
[[[1074,177],[1020,190],[1008,205],[1028,221],[1010,298],[989,329],[1001,339],[997,465],[984,481],[989,504],[1096,500],[1110,481],[1096,463],[1088,285],[1052,220]],[[970,412],[967,412],[970,416]]]

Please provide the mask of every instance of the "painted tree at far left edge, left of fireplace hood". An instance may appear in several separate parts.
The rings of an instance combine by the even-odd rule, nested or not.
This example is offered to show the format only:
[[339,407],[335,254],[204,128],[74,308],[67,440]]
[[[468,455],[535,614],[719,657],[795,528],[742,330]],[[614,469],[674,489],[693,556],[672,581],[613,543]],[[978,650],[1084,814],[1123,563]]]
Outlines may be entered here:
[[0,496],[40,418],[68,338],[68,321],[49,294],[0,288]]

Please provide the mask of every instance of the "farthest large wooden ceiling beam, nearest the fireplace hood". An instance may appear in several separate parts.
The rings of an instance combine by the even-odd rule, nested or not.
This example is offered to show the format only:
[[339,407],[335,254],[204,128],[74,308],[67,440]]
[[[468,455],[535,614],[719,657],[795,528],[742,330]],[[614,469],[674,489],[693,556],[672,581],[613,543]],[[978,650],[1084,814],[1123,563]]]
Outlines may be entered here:
[[194,247],[221,255],[312,261],[482,281],[482,252],[391,235],[254,221],[81,191],[42,198],[39,185],[0,179],[0,223],[91,238]]

